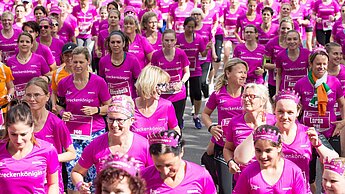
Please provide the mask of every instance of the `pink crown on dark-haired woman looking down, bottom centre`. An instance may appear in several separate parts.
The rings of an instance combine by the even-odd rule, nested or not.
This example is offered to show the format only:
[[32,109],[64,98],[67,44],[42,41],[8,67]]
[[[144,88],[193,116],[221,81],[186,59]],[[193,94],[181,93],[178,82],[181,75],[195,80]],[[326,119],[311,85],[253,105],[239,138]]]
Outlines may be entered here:
[[171,133],[170,135],[168,135],[168,132],[158,132],[158,133],[152,133],[149,135],[148,139],[149,139],[149,144],[165,144],[168,146],[172,146],[172,147],[177,147],[179,144],[179,135],[176,135],[176,137],[174,137],[175,134]]

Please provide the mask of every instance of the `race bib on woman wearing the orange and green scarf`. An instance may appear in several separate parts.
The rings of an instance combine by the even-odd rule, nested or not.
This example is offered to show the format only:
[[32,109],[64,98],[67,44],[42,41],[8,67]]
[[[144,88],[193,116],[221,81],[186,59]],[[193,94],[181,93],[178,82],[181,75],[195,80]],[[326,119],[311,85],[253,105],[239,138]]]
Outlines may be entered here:
[[318,132],[327,131],[331,125],[330,113],[327,111],[325,116],[319,116],[317,111],[305,111],[303,123],[306,126],[314,127]]

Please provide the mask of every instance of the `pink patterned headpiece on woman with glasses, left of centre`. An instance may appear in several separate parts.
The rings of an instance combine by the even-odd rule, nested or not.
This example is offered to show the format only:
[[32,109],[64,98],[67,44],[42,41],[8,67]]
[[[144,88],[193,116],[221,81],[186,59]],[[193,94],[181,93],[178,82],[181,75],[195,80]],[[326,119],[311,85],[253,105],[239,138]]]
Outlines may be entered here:
[[132,117],[134,115],[134,103],[129,96],[118,95],[111,98],[109,112],[117,112]]

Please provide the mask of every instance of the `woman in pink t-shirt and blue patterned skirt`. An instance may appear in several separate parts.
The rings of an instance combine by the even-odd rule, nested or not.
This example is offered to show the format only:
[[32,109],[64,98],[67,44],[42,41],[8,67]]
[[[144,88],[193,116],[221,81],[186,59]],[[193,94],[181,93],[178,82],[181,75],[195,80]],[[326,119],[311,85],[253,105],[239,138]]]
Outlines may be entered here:
[[[88,123],[69,130],[73,131],[73,146],[77,151],[77,157],[66,163],[68,175],[77,163],[83,149],[90,144],[91,140],[105,133],[105,121],[102,115],[106,114],[107,105],[111,96],[108,86],[103,78],[88,71],[90,54],[86,47],[77,47],[72,51],[73,74],[61,80],[58,84],[58,112],[64,121]],[[79,119],[79,120],[78,120]],[[85,119],[85,120],[84,120]],[[74,122],[74,123],[75,123]],[[73,123],[70,123],[72,125]],[[85,134],[84,138],[76,135]],[[96,169],[91,168],[86,177],[87,181],[93,180]],[[75,191],[71,180],[68,180],[69,192]]]

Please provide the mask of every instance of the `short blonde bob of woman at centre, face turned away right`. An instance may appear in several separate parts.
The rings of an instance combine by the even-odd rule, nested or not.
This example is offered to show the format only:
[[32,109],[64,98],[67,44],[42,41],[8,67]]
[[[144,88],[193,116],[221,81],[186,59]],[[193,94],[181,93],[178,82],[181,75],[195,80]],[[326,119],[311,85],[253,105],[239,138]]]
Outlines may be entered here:
[[170,76],[166,71],[157,66],[147,65],[142,69],[135,83],[135,88],[138,96],[149,99],[156,94],[157,84],[168,83],[169,81]]

